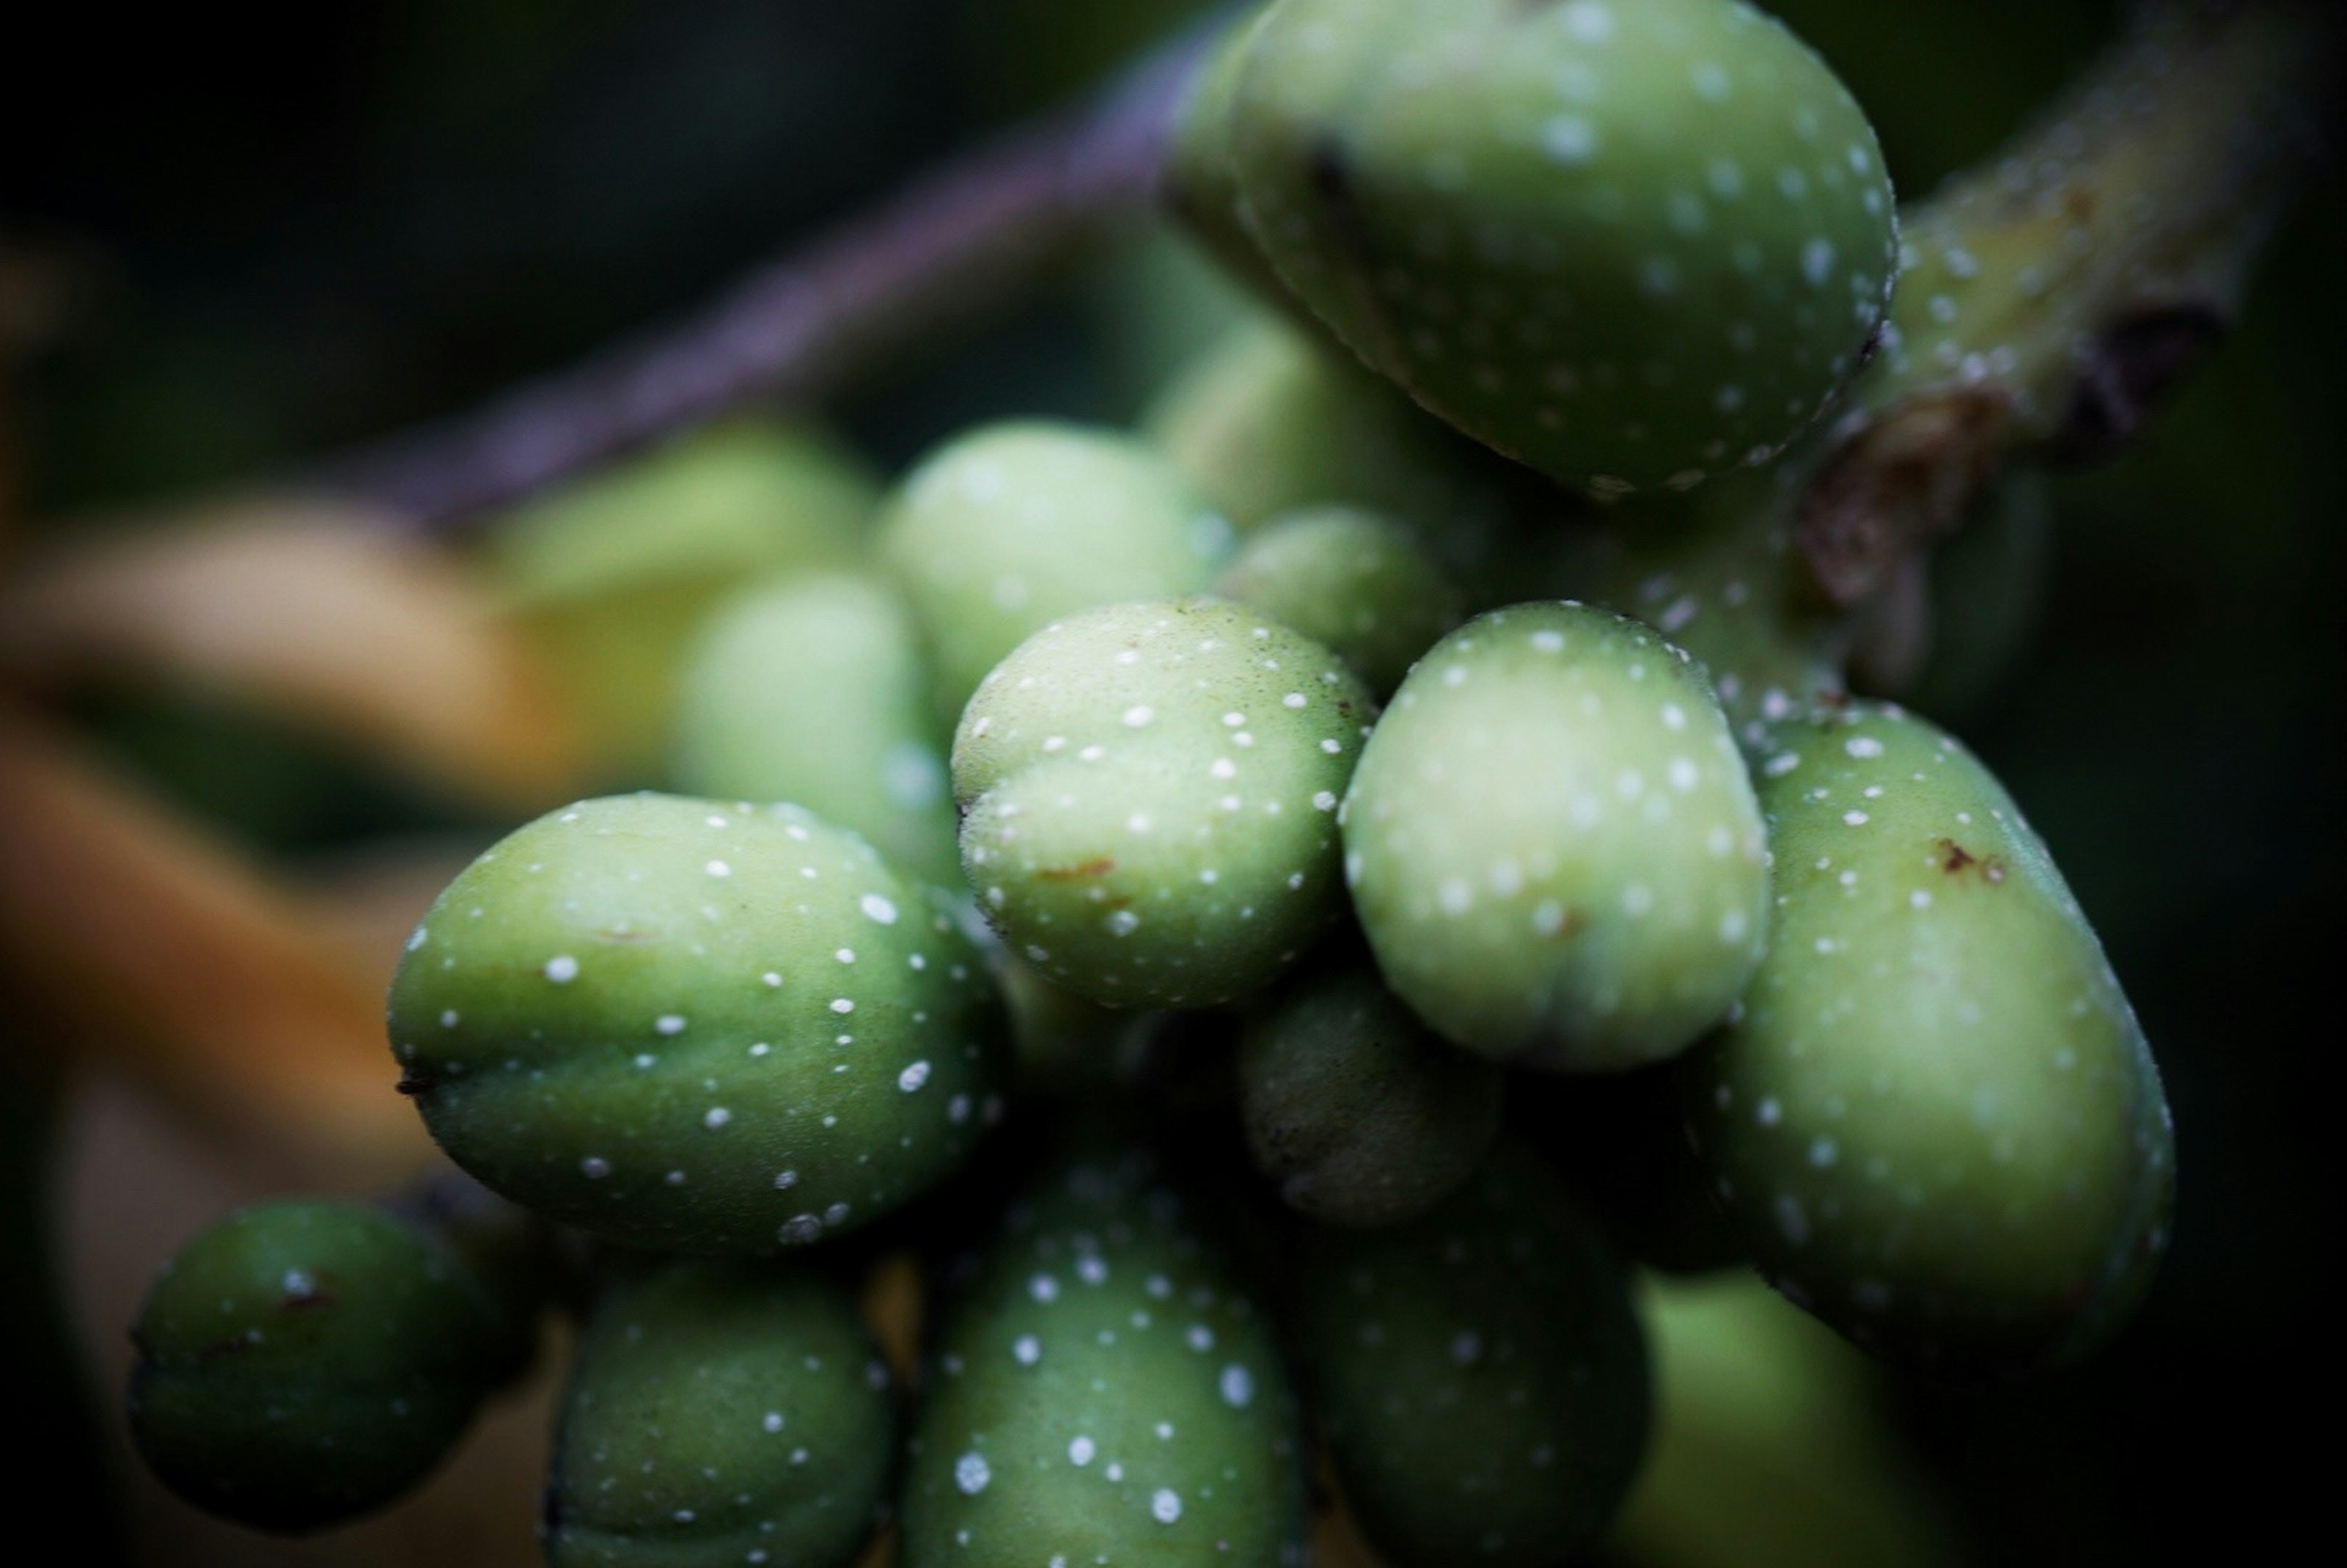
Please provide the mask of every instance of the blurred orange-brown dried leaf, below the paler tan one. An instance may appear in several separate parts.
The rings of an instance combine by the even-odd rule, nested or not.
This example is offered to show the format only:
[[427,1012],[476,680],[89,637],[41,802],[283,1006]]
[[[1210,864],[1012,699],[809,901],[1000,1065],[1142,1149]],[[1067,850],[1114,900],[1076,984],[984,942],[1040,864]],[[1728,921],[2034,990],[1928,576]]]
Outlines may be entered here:
[[0,707],[0,993],[68,1063],[380,1169],[430,1153],[392,1091],[383,967],[305,899]]

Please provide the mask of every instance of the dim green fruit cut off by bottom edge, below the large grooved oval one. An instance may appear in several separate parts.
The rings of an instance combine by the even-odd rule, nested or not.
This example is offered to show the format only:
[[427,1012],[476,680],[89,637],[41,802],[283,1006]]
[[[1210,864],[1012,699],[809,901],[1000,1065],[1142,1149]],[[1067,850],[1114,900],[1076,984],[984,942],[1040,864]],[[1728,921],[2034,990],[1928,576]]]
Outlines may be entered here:
[[671,1263],[603,1298],[547,1491],[554,1568],[845,1568],[887,1505],[887,1366],[833,1284]]

